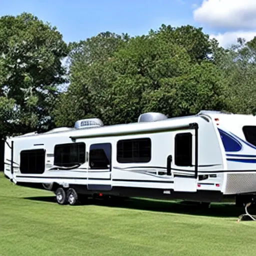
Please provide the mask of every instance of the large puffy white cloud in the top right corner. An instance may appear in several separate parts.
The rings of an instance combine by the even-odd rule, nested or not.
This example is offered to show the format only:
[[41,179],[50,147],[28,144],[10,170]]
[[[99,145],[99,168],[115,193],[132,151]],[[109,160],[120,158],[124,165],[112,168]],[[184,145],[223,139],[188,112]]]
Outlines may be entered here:
[[214,28],[256,28],[256,0],[203,0],[194,20]]

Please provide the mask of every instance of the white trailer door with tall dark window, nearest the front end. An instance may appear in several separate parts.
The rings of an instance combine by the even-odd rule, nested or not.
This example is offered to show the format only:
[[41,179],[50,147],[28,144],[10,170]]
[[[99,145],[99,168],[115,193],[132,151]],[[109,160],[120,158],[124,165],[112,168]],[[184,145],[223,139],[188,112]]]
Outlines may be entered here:
[[171,171],[174,176],[174,191],[195,192],[198,167],[198,133],[195,129],[173,133]]

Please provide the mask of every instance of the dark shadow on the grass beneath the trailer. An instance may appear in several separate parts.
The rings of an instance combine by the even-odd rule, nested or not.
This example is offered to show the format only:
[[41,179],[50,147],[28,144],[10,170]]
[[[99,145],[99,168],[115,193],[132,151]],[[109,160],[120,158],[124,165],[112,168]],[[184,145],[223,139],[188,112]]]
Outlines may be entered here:
[[[24,199],[56,203],[54,196],[25,197]],[[244,208],[236,207],[234,203],[211,203],[208,208],[192,202],[185,203],[184,201],[163,201],[142,198],[129,198],[125,200],[89,198],[85,203],[80,203],[75,207],[86,205],[215,217],[238,217],[240,214],[244,213]],[[249,212],[255,214],[256,208],[251,206]]]

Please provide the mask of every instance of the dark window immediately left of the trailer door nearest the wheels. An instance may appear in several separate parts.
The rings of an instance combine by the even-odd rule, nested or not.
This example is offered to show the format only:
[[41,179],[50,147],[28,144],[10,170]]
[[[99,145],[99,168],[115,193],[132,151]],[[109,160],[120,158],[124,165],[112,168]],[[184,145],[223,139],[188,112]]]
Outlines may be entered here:
[[54,165],[71,167],[85,162],[85,144],[66,143],[54,147]]

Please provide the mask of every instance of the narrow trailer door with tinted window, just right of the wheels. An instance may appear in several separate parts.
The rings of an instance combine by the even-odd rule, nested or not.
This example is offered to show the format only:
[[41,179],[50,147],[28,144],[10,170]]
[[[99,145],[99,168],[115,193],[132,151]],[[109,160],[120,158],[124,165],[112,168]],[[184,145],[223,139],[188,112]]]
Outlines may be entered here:
[[111,189],[111,143],[93,143],[88,151],[88,189]]

